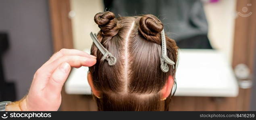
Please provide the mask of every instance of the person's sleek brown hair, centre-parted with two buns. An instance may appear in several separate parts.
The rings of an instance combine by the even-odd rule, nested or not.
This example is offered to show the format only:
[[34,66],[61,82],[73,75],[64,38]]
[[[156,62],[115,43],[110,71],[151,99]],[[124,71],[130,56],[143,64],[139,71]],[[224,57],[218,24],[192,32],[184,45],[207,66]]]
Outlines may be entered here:
[[89,71],[94,87],[102,93],[100,98],[94,97],[98,110],[168,110],[171,95],[161,101],[160,90],[168,76],[175,79],[178,47],[166,36],[167,56],[175,67],[168,65],[169,71],[162,72],[162,22],[153,15],[115,18],[112,12],[100,12],[94,21],[100,28],[98,40],[117,58],[117,63],[109,66],[106,60],[100,61],[103,55],[92,45],[97,63]]

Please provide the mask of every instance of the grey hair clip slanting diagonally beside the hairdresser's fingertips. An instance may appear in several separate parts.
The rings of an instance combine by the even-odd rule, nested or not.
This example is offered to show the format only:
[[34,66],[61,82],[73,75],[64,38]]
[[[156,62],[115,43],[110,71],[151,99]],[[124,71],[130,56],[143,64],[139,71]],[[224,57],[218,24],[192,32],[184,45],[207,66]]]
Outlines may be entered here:
[[97,46],[97,48],[103,54],[103,57],[101,58],[101,60],[102,61],[103,60],[107,60],[108,61],[108,65],[110,65],[110,66],[115,65],[116,62],[117,62],[117,59],[110,52],[108,52],[108,50],[106,48],[104,48],[104,46],[102,46],[102,44],[100,44],[100,42],[97,39],[97,35],[93,34],[91,32],[90,36],[91,36],[92,41],[94,42],[94,44]]

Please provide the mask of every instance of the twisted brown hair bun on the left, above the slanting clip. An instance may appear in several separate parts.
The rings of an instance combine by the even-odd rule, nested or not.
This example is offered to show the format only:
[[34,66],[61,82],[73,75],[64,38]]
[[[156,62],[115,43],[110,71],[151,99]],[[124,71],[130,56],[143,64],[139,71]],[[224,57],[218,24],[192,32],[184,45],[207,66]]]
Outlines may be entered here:
[[98,24],[102,36],[115,36],[119,28],[117,20],[112,12],[99,12],[94,16],[94,21]]

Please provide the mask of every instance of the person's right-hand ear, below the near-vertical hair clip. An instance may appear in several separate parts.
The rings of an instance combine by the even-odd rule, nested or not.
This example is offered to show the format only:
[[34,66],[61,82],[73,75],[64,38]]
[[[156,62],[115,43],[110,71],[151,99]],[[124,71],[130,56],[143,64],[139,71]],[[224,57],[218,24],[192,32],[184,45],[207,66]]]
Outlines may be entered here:
[[161,90],[161,99],[167,98],[171,94],[171,90],[173,89],[173,76],[169,76],[164,88]]

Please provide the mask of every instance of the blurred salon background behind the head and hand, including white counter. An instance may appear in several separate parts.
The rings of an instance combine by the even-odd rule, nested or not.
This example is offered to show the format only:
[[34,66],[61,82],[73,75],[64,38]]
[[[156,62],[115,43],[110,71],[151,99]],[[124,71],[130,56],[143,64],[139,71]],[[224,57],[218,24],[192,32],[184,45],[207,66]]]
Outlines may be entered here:
[[[0,0],[0,101],[29,90],[61,48],[88,51],[98,12],[153,14],[180,49],[170,110],[256,110],[255,0]],[[60,110],[97,110],[87,68],[73,68]]]

